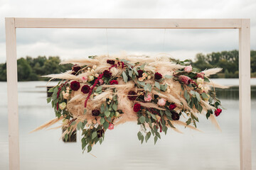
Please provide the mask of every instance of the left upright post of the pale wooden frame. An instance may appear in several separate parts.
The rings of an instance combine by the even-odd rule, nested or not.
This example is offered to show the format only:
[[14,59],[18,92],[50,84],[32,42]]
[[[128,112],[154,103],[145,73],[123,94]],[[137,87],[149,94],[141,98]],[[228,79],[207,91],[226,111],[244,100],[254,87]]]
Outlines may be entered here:
[[14,18],[6,18],[6,64],[9,125],[9,169],[19,170],[18,79],[16,28]]

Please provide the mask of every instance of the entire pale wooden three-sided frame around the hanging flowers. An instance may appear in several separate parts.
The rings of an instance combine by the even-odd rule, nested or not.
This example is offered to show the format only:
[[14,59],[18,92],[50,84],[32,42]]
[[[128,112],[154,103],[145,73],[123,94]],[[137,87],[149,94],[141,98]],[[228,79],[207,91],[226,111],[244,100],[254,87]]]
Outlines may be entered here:
[[10,170],[20,169],[16,28],[238,28],[240,169],[252,169],[250,19],[6,18]]

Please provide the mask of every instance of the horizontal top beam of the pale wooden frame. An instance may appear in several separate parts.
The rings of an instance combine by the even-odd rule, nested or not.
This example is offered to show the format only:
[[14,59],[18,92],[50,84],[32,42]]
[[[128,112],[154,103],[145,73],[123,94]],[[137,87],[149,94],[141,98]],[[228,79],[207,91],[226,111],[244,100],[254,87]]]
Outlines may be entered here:
[[15,18],[16,28],[240,28],[241,19]]

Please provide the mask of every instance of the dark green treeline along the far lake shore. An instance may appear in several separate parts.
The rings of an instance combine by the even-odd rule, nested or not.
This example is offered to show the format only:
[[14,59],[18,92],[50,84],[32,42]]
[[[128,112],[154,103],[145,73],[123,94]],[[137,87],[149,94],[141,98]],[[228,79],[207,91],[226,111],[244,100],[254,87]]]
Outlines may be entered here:
[[[17,60],[18,81],[48,80],[41,76],[65,72],[71,69],[70,64],[60,65],[60,57],[38,56],[26,57]],[[214,78],[238,78],[238,50],[212,52],[207,55],[199,53],[194,61],[190,60],[193,67],[204,70],[206,68],[223,68],[223,72],[214,75]],[[251,50],[251,77],[256,77],[256,50]],[[0,64],[0,81],[6,81],[6,63]]]

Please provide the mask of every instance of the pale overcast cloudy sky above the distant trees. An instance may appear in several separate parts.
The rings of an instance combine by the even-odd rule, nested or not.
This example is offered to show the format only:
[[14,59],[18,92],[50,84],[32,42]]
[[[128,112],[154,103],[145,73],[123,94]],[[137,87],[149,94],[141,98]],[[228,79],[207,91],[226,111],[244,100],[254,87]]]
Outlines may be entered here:
[[[0,62],[6,62],[5,17],[30,18],[250,18],[256,50],[255,0],[0,0]],[[238,49],[238,30],[18,28],[17,56],[156,55],[184,60],[196,53]]]

